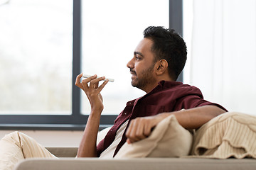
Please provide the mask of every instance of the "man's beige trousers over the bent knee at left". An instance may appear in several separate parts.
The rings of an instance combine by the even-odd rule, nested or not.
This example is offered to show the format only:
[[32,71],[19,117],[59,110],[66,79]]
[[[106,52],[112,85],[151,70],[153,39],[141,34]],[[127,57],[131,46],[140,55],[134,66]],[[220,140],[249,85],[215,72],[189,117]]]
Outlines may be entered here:
[[0,170],[11,170],[22,159],[36,157],[57,158],[21,132],[12,132],[0,140]]

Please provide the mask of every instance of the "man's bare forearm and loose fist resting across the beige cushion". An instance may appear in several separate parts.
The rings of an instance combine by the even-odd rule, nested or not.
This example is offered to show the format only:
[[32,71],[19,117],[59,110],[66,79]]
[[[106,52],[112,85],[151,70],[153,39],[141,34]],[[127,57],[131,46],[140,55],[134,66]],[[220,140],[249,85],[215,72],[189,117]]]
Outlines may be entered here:
[[135,118],[134,120],[131,120],[127,129],[127,142],[137,142],[148,137],[151,133],[151,128],[154,128],[154,126],[169,115],[175,115],[178,123],[183,126],[183,128],[197,129],[204,123],[207,123],[210,119],[222,113],[225,113],[225,111],[217,106],[202,106],[170,113],[160,113],[158,115],[143,118]]

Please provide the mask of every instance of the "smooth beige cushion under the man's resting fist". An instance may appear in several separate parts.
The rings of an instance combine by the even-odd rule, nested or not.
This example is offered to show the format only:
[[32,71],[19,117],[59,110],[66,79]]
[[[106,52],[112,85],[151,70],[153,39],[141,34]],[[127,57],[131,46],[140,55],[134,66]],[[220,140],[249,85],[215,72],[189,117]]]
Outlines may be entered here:
[[170,115],[162,120],[151,135],[144,140],[121,147],[114,158],[132,157],[181,157],[191,150],[193,137]]

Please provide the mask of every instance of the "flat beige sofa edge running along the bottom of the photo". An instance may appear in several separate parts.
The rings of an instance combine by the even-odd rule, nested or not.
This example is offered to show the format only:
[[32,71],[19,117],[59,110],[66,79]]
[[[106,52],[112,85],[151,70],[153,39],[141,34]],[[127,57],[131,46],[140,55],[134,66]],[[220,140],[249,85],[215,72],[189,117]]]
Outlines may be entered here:
[[256,159],[140,158],[140,159],[25,159],[14,170],[255,170]]

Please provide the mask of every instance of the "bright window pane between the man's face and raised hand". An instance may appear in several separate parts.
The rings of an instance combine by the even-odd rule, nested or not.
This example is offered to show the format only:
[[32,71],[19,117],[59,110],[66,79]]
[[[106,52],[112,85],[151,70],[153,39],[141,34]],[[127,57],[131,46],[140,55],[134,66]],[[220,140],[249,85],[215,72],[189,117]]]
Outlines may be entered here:
[[[168,0],[82,1],[82,72],[114,79],[102,90],[102,114],[119,114],[127,101],[144,95],[131,85],[126,67],[148,26],[169,28]],[[82,94],[82,114],[90,103]]]

